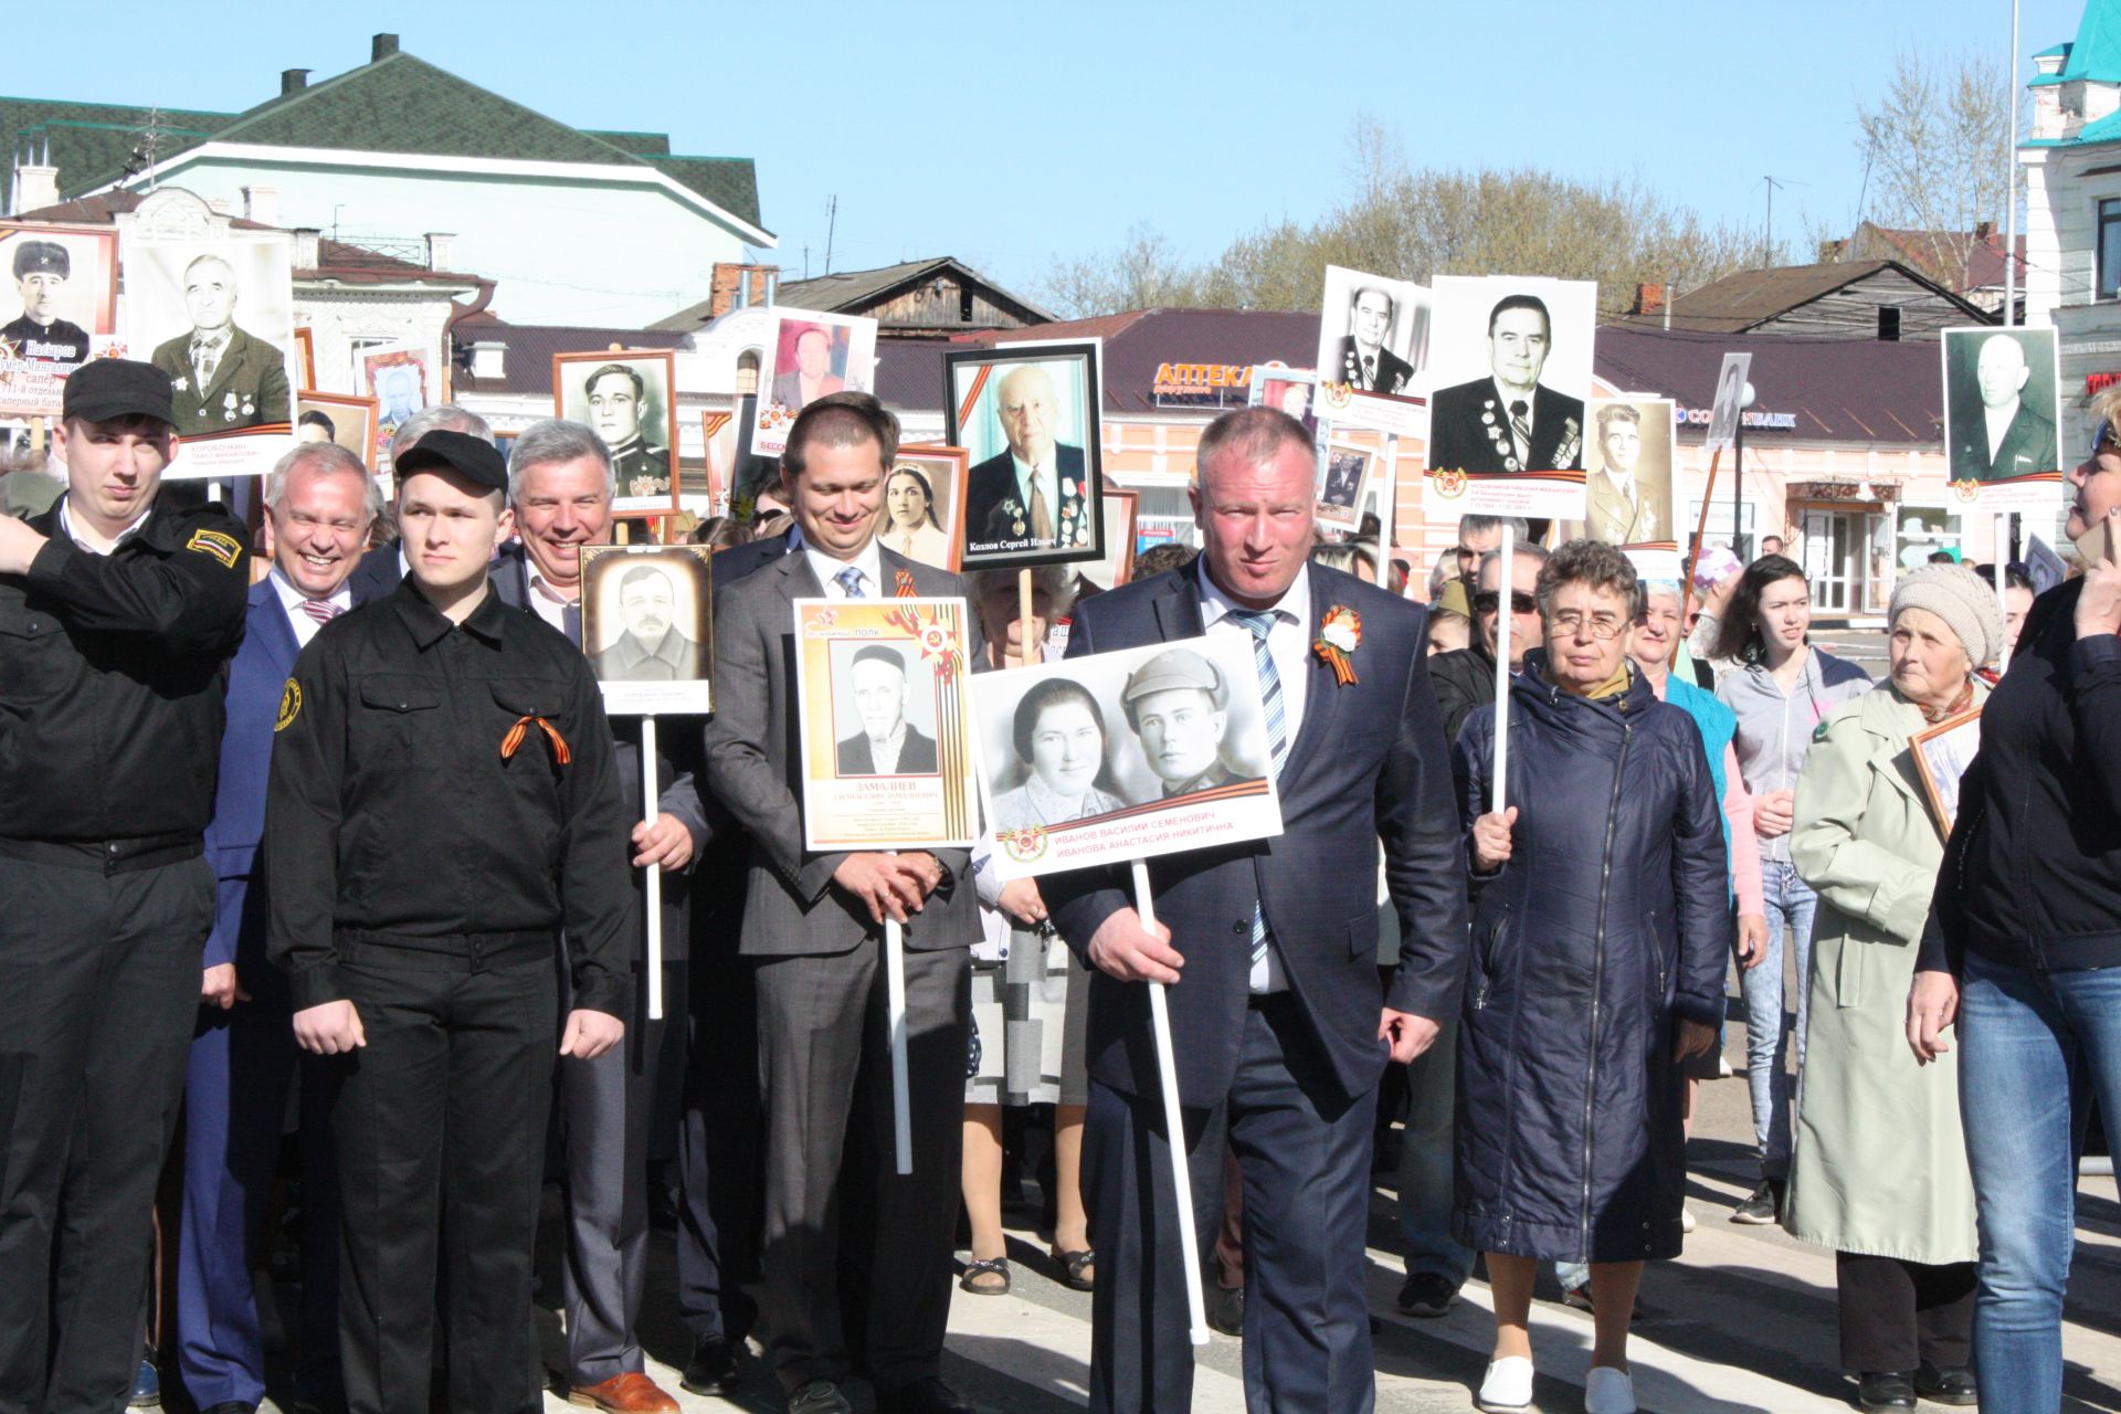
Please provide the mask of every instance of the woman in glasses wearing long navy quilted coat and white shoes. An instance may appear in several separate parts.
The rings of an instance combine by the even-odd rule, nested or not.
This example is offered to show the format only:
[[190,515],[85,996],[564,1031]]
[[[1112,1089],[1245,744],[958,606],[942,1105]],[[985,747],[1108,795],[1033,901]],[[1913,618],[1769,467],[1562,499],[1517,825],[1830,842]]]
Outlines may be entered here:
[[1635,1408],[1627,1323],[1642,1263],[1680,1255],[1680,1060],[1722,1020],[1722,814],[1693,719],[1629,668],[1642,587],[1597,541],[1538,579],[1544,649],[1510,683],[1506,810],[1493,712],[1457,742],[1474,880],[1459,1026],[1453,1234],[1487,1253],[1495,1359],[1483,1410],[1531,1401],[1538,1261],[1591,1263],[1589,1414]]

